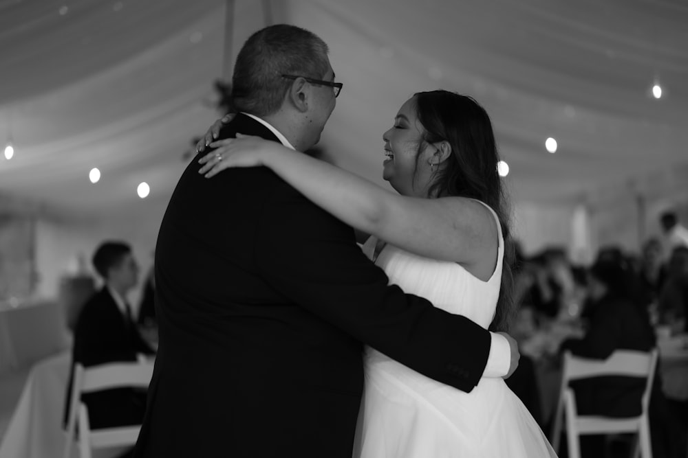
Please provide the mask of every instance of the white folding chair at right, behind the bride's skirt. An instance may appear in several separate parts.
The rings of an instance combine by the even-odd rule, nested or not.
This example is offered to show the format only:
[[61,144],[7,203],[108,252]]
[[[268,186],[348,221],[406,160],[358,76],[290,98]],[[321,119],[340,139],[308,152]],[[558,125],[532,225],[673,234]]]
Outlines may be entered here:
[[[652,380],[657,363],[657,350],[652,352],[636,352],[632,350],[616,350],[605,360],[594,360],[573,356],[571,352],[563,355],[563,375],[561,377],[561,391],[557,412],[552,425],[552,447],[558,453],[561,437],[561,427],[565,415],[566,439],[568,442],[569,458],[580,458],[580,435],[637,433],[638,444],[634,450],[634,457],[638,453],[642,458],[652,458],[649,436],[649,397],[652,392]],[[568,385],[571,380],[598,376],[630,376],[646,378],[645,391],[641,398],[641,415],[637,417],[603,417],[599,415],[578,415],[576,411],[576,396]]]

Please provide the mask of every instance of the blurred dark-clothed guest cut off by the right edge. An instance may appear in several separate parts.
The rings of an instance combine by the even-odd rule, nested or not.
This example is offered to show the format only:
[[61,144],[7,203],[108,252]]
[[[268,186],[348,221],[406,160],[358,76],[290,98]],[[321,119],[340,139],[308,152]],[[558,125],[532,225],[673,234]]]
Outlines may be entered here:
[[679,325],[675,332],[688,330],[688,247],[676,247],[671,252],[668,272],[659,296],[659,322]]

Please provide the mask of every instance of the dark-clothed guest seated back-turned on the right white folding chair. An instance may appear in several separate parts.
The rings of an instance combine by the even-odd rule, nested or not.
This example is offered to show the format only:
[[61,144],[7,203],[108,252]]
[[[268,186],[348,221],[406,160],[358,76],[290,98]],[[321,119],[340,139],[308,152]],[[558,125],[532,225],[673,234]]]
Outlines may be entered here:
[[[605,252],[590,269],[588,312],[589,328],[583,339],[570,339],[561,350],[587,358],[605,359],[615,350],[648,352],[656,345],[654,328],[647,308],[634,297],[630,269],[619,253]],[[657,371],[658,374],[658,371]],[[641,413],[645,380],[629,377],[599,377],[571,382],[578,413],[632,417]],[[669,418],[661,380],[656,375],[650,400],[649,422],[654,458],[674,457],[676,422]],[[603,437],[581,437],[585,457],[604,456]]]

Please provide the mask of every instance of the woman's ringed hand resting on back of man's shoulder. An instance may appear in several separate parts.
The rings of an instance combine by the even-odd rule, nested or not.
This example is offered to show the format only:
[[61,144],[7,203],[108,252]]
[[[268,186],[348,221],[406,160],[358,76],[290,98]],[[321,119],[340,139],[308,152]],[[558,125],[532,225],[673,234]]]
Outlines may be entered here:
[[204,164],[198,173],[205,174],[206,178],[230,167],[268,165],[266,158],[270,152],[290,151],[276,141],[239,133],[237,138],[213,141],[209,146],[217,149],[198,160],[198,163]]

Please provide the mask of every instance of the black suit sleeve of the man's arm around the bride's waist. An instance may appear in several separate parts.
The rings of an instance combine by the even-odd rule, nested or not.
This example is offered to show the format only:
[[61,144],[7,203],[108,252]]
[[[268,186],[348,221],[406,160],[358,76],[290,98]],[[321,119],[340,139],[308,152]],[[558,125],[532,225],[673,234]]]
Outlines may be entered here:
[[354,231],[284,185],[264,207],[255,262],[296,304],[425,376],[471,391],[490,352],[487,330],[387,286]]

